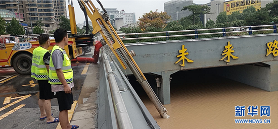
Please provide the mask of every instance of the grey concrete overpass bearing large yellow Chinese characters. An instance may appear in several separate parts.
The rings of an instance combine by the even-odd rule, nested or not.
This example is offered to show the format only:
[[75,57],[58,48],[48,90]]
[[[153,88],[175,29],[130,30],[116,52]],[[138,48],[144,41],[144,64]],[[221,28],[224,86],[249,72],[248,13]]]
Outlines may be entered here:
[[[133,58],[143,73],[153,73],[161,76],[162,82],[161,87],[158,88],[158,97],[163,104],[169,104],[170,75],[180,70],[239,66],[257,62],[271,63],[269,64],[270,70],[256,67],[246,68],[246,66],[237,67],[237,70],[229,71],[230,74],[237,74],[237,76],[230,76],[230,78],[267,91],[278,90],[278,83],[275,81],[275,77],[277,77],[275,72],[277,72],[278,69],[278,67],[276,67],[277,59],[275,59],[273,54],[266,56],[268,49],[267,43],[273,42],[274,40],[278,40],[277,33],[164,42],[145,42],[125,45],[129,51],[133,50],[136,53],[136,56]],[[226,49],[225,46],[227,46],[228,42],[230,42],[235,51],[231,54],[239,57],[238,59],[232,59],[230,57],[230,62],[220,60],[224,56],[222,53],[224,53],[223,51]],[[179,60],[177,55],[180,54],[179,50],[182,49],[182,45],[184,45],[184,48],[187,48],[186,52],[188,52],[188,55],[186,55],[186,57],[194,60],[194,62],[187,62],[185,60],[184,67],[179,65],[182,64],[182,61],[175,64],[175,62]],[[256,69],[258,69],[259,74],[253,72],[253,70]],[[129,69],[122,69],[122,71],[126,75],[132,74]],[[261,75],[262,73],[264,73],[265,76]],[[227,76],[228,74],[226,77]]]

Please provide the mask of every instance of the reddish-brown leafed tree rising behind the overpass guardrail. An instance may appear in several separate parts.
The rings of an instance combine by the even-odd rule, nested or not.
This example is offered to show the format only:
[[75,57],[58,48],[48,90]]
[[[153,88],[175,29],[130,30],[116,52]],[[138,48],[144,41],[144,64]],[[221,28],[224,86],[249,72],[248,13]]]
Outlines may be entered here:
[[200,21],[200,14],[210,14],[210,7],[208,7],[208,5],[200,6],[193,4],[190,6],[183,7],[181,11],[183,10],[188,10],[192,12],[192,14],[190,15],[191,20],[193,21],[192,25],[195,25],[196,21]]

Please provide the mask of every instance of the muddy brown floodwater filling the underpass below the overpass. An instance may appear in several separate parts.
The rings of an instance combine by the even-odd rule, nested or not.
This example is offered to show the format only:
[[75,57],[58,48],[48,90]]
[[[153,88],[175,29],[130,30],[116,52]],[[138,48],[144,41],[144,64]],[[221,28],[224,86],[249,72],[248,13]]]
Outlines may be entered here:
[[[198,73],[171,76],[171,104],[164,105],[169,119],[160,117],[146,94],[139,94],[161,128],[278,128],[277,91]],[[245,117],[235,116],[237,105],[246,106]],[[247,115],[249,105],[258,106],[258,115]],[[269,117],[260,116],[262,105],[270,106]],[[270,119],[271,123],[235,123],[235,119]]]

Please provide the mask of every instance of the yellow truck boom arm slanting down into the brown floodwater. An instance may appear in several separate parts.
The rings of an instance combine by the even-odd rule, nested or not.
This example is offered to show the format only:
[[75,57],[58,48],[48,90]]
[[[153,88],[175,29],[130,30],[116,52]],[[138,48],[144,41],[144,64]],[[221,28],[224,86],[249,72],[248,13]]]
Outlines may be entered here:
[[[68,1],[68,2],[69,2],[68,8],[69,8],[69,15],[70,15],[71,33],[73,35],[76,35],[77,30],[76,30],[76,23],[75,23],[74,7],[73,7],[72,1]],[[97,1],[97,2],[100,4],[100,6],[103,10],[103,13],[99,12],[100,9],[96,8],[91,1],[84,1],[84,0],[78,1],[78,4],[79,4],[81,10],[84,13],[86,23],[88,22],[87,17],[89,17],[89,19],[92,22],[93,30],[92,30],[91,34],[96,35],[97,33],[99,33],[102,35],[103,39],[101,39],[100,43],[96,44],[96,47],[108,45],[124,69],[127,68],[125,63],[127,64],[127,66],[132,71],[132,73],[135,76],[135,78],[137,79],[137,81],[142,85],[143,89],[145,90],[145,92],[147,93],[147,95],[149,96],[149,98],[151,99],[153,104],[155,105],[156,109],[160,113],[160,116],[162,118],[169,118],[170,116],[167,114],[166,108],[159,101],[158,97],[155,95],[153,89],[151,88],[151,86],[148,83],[147,79],[145,78],[144,74],[142,73],[142,71],[137,66],[136,62],[134,61],[132,56],[135,56],[135,53],[133,51],[129,52],[127,50],[127,48],[123,44],[122,40],[116,33],[115,29],[111,25],[109,16],[108,16],[106,10],[103,8],[103,5],[101,4],[100,1]],[[86,24],[86,32],[88,29],[87,26],[88,26],[88,24]],[[79,38],[86,39],[86,35],[83,35],[83,37],[79,37]],[[101,45],[99,45],[99,44],[101,44]],[[124,61],[121,59],[121,57],[119,55],[121,55],[121,57],[123,58]],[[95,58],[99,58],[99,57],[94,55],[94,59]]]

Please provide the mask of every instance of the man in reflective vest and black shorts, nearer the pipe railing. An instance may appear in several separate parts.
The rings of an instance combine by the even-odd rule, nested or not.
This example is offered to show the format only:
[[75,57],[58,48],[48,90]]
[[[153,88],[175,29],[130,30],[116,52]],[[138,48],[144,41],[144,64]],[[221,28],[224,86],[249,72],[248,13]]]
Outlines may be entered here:
[[78,128],[78,125],[70,125],[68,120],[68,110],[73,104],[72,87],[73,71],[71,69],[70,59],[65,52],[65,46],[68,45],[67,31],[60,28],[54,32],[56,45],[53,47],[50,57],[49,82],[52,92],[55,92],[59,104],[59,119],[61,127]]

